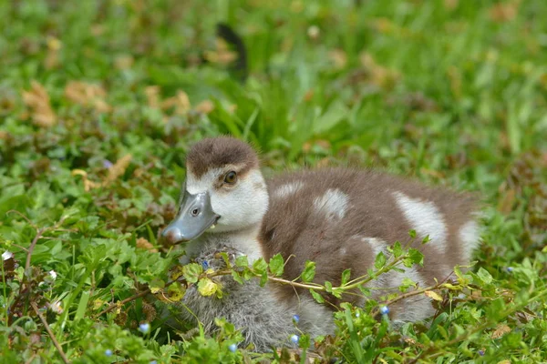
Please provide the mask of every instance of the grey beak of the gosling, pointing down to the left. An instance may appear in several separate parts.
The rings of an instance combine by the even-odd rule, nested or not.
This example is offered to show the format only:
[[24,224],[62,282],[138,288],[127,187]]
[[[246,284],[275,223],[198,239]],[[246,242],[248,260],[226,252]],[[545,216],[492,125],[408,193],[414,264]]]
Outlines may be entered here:
[[191,195],[185,192],[179,214],[165,227],[161,237],[170,244],[190,241],[198,238],[219,218],[221,217],[212,211],[209,193]]

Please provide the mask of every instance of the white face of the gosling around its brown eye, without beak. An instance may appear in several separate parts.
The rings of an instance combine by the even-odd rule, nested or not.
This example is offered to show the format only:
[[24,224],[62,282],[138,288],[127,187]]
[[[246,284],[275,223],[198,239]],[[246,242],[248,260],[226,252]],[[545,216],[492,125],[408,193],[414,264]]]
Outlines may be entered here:
[[[262,221],[268,209],[268,191],[262,173],[251,169],[240,176],[241,167],[212,168],[201,178],[196,178],[190,170],[187,172],[186,190],[191,195],[209,192],[212,211],[221,216],[211,232],[252,227]],[[236,173],[235,182],[225,182],[226,175],[232,171]]]

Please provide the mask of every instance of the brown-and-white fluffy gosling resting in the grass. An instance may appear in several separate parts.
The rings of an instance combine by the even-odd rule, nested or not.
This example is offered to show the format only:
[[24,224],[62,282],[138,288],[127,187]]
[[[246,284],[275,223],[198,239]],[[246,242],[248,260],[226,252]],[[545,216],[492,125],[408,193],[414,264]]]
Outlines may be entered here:
[[[162,232],[170,244],[186,243],[185,261],[206,257],[208,251],[222,246],[247,255],[251,262],[280,253],[286,261],[284,278],[297,278],[305,261],[313,260],[314,281],[335,286],[347,268],[352,278],[366,275],[377,254],[387,252],[395,241],[418,248],[424,254],[424,267],[381,275],[371,284],[377,288],[372,298],[377,298],[397,288],[403,278],[419,287],[433,284],[435,278],[448,278],[454,266],[470,262],[479,242],[472,197],[402,177],[322,168],[287,172],[264,181],[253,148],[226,136],[191,147],[186,167],[179,214]],[[417,238],[409,238],[409,230],[415,230]],[[430,241],[422,245],[426,237]],[[262,318],[260,328],[272,339],[261,341],[261,346],[274,345],[291,331],[279,319],[279,308],[288,317],[298,312],[300,322],[318,335],[334,331],[329,309],[333,305],[364,303],[363,298],[346,295],[329,298],[332,305],[323,306],[308,292],[291,286],[229,287],[232,298],[227,301],[196,297],[191,298],[195,304],[188,306],[197,309],[197,316],[209,326],[215,316],[225,316],[237,328],[253,332],[258,327],[256,319]],[[238,304],[242,302],[238,299],[247,306]],[[429,299],[419,296],[389,309],[390,318],[399,323],[426,319],[433,313]],[[255,320],[242,319],[245,315]],[[321,325],[314,326],[315,322]]]

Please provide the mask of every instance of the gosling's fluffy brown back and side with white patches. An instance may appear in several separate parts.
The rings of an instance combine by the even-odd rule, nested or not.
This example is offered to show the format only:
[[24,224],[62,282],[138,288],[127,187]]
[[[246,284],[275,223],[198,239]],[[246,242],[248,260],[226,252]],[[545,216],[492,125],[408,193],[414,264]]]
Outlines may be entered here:
[[[285,278],[296,278],[305,260],[315,261],[317,283],[337,284],[346,268],[352,278],[362,276],[377,253],[395,241],[409,242],[413,229],[417,238],[411,245],[423,252],[424,268],[409,268],[405,276],[424,287],[469,263],[479,239],[472,197],[402,177],[347,168],[304,170],[271,178],[268,192],[263,255],[291,257]],[[431,240],[422,245],[425,236]],[[377,283],[397,286],[402,277],[387,275]],[[282,291],[294,294],[291,288]]]

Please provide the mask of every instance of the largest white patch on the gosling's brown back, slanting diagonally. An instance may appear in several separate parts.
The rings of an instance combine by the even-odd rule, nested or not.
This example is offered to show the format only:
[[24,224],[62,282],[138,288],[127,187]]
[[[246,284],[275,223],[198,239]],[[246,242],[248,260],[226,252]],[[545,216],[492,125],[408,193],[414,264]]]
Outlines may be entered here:
[[441,252],[447,253],[447,226],[439,209],[432,202],[395,192],[397,206],[405,215],[410,227],[414,228],[420,237],[429,236]]

